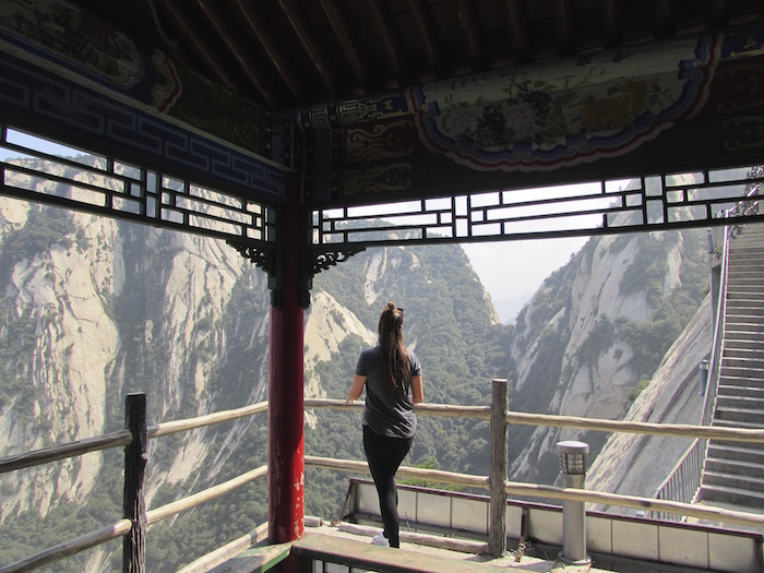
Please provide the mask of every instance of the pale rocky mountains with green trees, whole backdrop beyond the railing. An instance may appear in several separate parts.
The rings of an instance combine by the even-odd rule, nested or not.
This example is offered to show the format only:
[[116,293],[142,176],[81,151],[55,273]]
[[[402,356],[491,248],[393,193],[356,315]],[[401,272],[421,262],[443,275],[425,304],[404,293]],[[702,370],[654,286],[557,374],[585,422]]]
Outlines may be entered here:
[[[513,409],[621,418],[707,293],[704,241],[700,231],[592,238],[515,325],[499,322],[461,247],[369,249],[314,277],[306,396],[345,395],[394,300],[428,402],[485,405],[491,380],[509,378]],[[222,241],[0,199],[0,455],[121,429],[129,392],[147,393],[150,423],[267,397],[267,277]],[[357,414],[308,411],[306,453],[363,459],[359,425]],[[515,426],[510,437],[511,479],[541,482],[558,475],[557,440],[585,438],[593,458],[605,442]],[[148,506],[264,464],[265,443],[265,416],[152,440]],[[406,463],[487,475],[488,422],[420,417]],[[120,518],[121,464],[115,451],[0,476],[0,565]],[[336,517],[347,479],[308,468],[306,512]],[[262,523],[265,487],[152,527],[151,571]],[[118,544],[57,565],[119,569]]]

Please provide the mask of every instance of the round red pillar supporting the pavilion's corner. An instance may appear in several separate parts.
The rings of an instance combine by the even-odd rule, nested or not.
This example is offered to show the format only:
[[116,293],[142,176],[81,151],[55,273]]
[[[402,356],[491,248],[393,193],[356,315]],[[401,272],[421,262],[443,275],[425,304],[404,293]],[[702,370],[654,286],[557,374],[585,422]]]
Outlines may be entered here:
[[303,319],[300,300],[302,263],[299,190],[287,182],[282,212],[280,268],[271,310],[268,373],[268,537],[293,541],[305,530],[305,441],[302,432]]

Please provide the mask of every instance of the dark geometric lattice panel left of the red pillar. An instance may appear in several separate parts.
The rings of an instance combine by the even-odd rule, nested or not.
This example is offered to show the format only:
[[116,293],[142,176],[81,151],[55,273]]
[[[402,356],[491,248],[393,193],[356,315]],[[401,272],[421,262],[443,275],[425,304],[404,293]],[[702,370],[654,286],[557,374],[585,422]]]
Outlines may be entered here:
[[2,127],[0,193],[236,241],[273,242],[271,207]]

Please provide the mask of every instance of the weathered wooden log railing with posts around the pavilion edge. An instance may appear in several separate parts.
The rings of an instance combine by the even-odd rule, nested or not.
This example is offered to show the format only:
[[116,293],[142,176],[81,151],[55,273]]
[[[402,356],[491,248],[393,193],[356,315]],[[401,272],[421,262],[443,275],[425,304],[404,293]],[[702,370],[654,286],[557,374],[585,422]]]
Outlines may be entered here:
[[[736,428],[716,428],[704,426],[689,426],[676,423],[649,423],[618,420],[602,420],[580,418],[572,416],[552,416],[541,414],[524,414],[509,411],[506,406],[506,381],[493,381],[492,406],[452,406],[445,404],[418,404],[415,409],[417,415],[459,417],[484,419],[491,421],[491,469],[489,476],[474,476],[452,471],[401,467],[401,477],[422,479],[441,484],[452,484],[473,488],[490,490],[490,525],[489,540],[485,552],[491,556],[503,554],[506,546],[505,533],[505,504],[508,494],[527,496],[536,498],[573,500],[586,503],[607,503],[633,509],[646,509],[657,512],[670,512],[700,518],[714,520],[726,523],[753,525],[764,527],[764,515],[731,511],[720,508],[692,505],[689,503],[620,496],[597,491],[557,488],[537,484],[523,484],[509,481],[506,476],[506,443],[508,431],[512,425],[547,426],[557,428],[576,428],[580,430],[594,430],[605,432],[628,432],[648,435],[673,435],[680,438],[697,439],[724,439],[741,442],[764,443],[764,430],[748,430]],[[357,411],[362,409],[362,404],[345,405],[339,399],[306,399],[307,408],[331,408]],[[251,469],[229,481],[219,484],[204,491],[187,497],[182,500],[168,503],[162,508],[146,511],[143,501],[142,473],[145,468],[145,444],[150,439],[169,435],[177,432],[189,431],[205,426],[231,421],[238,418],[253,416],[267,410],[267,403],[260,403],[243,408],[220,411],[198,418],[163,422],[146,427],[145,425],[145,395],[132,394],[126,399],[126,420],[129,429],[114,432],[99,438],[81,440],[74,443],[55,447],[28,452],[0,458],[0,474],[16,469],[46,464],[67,457],[83,455],[88,452],[106,450],[109,447],[126,446],[126,494],[124,518],[102,527],[75,539],[59,544],[26,559],[0,568],[0,573],[19,573],[34,571],[40,566],[55,563],[67,557],[75,554],[105,544],[109,540],[123,538],[123,571],[143,573],[145,571],[145,530],[148,525],[177,515],[207,501],[219,498],[235,489],[267,474],[267,466]],[[138,446],[136,446],[138,444]],[[341,471],[368,474],[366,462],[315,457],[305,457],[307,466],[322,467]],[[266,526],[266,524],[264,524]],[[228,546],[215,551],[216,559],[224,559],[237,550],[247,547],[248,544],[264,538],[264,525],[231,541]],[[205,558],[202,558],[204,560]],[[208,558],[213,559],[213,558]],[[183,571],[192,572],[198,568],[189,565]]]

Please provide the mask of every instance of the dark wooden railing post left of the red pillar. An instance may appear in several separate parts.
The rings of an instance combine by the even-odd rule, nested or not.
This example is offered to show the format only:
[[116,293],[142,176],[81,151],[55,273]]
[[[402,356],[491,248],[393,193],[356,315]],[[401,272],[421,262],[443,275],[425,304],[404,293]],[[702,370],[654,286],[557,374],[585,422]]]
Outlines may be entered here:
[[146,395],[128,394],[124,423],[133,441],[124,447],[124,493],[122,511],[132,522],[130,534],[122,538],[122,573],[146,571],[146,501],[143,478],[146,470]]

